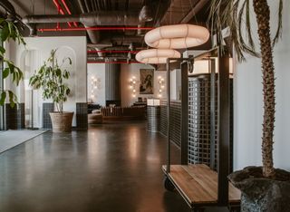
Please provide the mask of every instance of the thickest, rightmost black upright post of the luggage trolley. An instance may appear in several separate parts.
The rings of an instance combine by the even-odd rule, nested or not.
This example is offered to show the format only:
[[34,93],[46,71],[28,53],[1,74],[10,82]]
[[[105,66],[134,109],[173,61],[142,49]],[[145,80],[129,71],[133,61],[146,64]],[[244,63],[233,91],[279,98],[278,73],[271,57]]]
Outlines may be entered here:
[[228,205],[229,58],[218,49],[218,205]]

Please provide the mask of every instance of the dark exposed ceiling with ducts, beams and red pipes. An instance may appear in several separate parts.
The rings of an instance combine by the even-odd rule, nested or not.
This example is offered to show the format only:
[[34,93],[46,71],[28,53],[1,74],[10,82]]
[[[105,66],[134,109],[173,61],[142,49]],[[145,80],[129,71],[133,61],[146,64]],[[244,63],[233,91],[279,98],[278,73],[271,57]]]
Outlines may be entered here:
[[[210,1],[10,0],[9,2],[14,5],[16,13],[24,18],[23,21],[31,30],[34,29],[33,34],[38,36],[87,34],[88,61],[102,62],[113,59],[130,62],[134,61],[134,53],[147,48],[143,36],[150,27],[180,23],[204,25]],[[85,30],[83,27],[111,27],[111,29]],[[146,29],[140,30],[140,27]],[[80,31],[80,28],[83,30]],[[40,32],[40,29],[45,32]],[[27,30],[27,34],[28,32]],[[199,49],[210,47],[208,42]]]

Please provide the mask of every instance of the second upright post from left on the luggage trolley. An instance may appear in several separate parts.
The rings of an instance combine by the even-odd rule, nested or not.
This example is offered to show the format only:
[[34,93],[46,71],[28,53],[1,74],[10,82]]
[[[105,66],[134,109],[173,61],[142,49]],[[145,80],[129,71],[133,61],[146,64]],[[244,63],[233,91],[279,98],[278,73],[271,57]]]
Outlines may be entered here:
[[181,165],[189,162],[189,63],[181,63]]

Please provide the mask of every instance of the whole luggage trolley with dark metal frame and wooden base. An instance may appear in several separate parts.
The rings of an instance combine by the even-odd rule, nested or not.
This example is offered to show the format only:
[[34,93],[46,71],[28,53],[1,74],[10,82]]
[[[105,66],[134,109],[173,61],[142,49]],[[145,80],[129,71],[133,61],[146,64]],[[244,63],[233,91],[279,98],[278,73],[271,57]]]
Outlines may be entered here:
[[[226,49],[223,49],[226,51]],[[188,164],[189,156],[189,72],[194,60],[208,60],[211,81],[210,107],[210,164]],[[229,174],[229,55],[215,48],[196,58],[168,59],[168,162],[162,166],[165,173],[164,187],[175,188],[194,212],[204,211],[208,206],[228,207],[239,211],[240,191],[227,180]],[[178,61],[181,69],[181,164],[170,164],[170,62]],[[218,71],[218,91],[216,92],[216,71]],[[216,97],[216,93],[218,96]],[[218,100],[218,116],[215,116],[215,100]],[[216,120],[217,119],[217,120]],[[215,134],[216,123],[218,133]],[[216,149],[215,138],[218,138]],[[215,151],[218,152],[218,172],[214,171]]]

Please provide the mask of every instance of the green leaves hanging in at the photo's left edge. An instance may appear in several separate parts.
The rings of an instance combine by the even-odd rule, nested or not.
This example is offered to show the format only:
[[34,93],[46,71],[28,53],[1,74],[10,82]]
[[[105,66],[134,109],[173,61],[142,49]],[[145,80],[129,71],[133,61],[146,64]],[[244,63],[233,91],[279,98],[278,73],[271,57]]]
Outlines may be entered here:
[[[25,44],[23,36],[20,34],[18,27],[12,22],[5,20],[5,18],[0,17],[0,36],[1,42],[9,42],[14,40],[18,44]],[[0,46],[0,62],[4,63],[4,69],[1,74],[4,80],[11,76],[12,81],[18,86],[19,82],[24,79],[23,72],[14,65],[12,61],[5,57],[5,47]],[[0,105],[5,104],[5,100],[10,102],[10,106],[14,107],[15,102],[17,102],[17,97],[11,90],[5,90],[5,88],[0,87]]]

